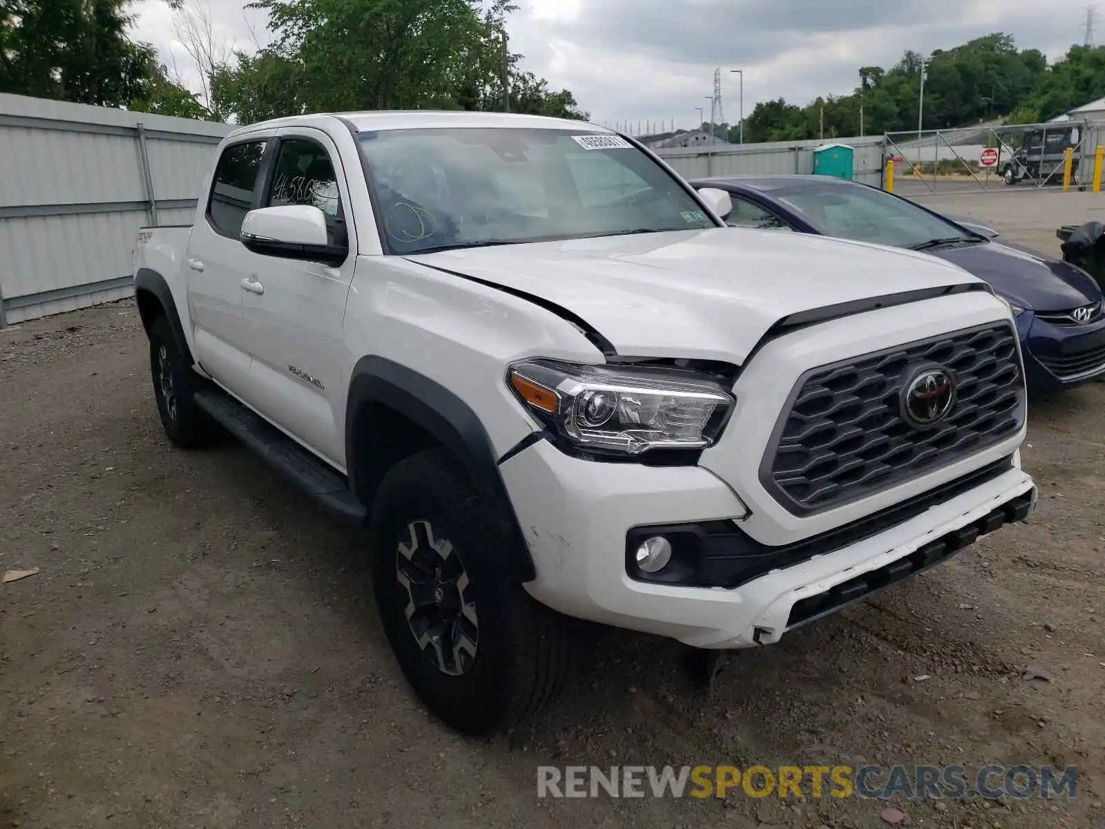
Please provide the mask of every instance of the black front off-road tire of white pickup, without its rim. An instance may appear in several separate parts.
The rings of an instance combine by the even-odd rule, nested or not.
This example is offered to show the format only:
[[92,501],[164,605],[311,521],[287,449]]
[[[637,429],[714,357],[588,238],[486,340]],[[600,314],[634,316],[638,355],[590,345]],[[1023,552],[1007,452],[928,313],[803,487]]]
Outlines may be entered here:
[[[412,525],[428,523],[463,564],[477,615],[478,642],[467,670],[446,673],[418,644],[400,583],[399,545]],[[423,525],[424,526],[424,525]],[[377,608],[396,659],[415,694],[453,728],[483,735],[520,726],[560,692],[569,669],[569,621],[502,575],[517,550],[491,522],[463,468],[443,449],[411,455],[385,476],[371,520],[371,569]]]

